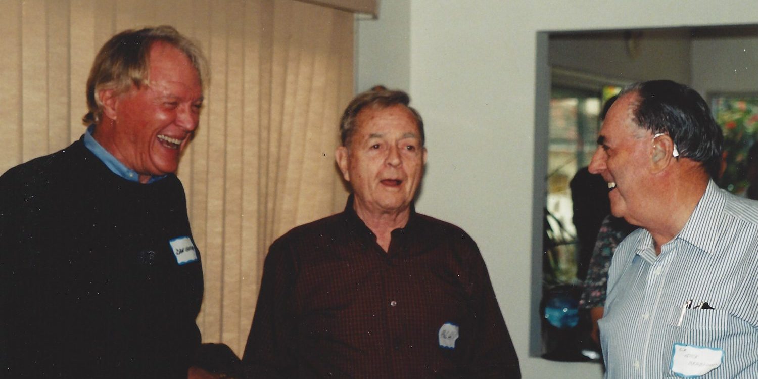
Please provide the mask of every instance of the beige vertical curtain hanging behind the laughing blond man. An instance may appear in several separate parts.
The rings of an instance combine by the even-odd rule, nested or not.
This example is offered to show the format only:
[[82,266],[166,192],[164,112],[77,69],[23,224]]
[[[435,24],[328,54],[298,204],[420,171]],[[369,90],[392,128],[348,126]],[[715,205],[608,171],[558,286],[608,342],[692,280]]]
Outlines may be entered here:
[[242,354],[268,245],[339,211],[352,14],[292,0],[0,0],[0,171],[83,133],[86,77],[118,31],[171,24],[211,82],[178,173],[205,271],[203,339]]

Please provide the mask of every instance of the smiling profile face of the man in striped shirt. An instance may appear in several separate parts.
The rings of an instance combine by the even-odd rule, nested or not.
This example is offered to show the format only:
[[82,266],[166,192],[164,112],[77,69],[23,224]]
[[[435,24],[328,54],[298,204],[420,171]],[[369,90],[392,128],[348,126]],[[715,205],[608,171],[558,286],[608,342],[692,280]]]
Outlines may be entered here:
[[608,182],[611,213],[639,225],[647,193],[647,164],[652,149],[652,134],[634,121],[636,95],[628,93],[612,105],[597,138],[597,151],[590,161],[590,172]]

